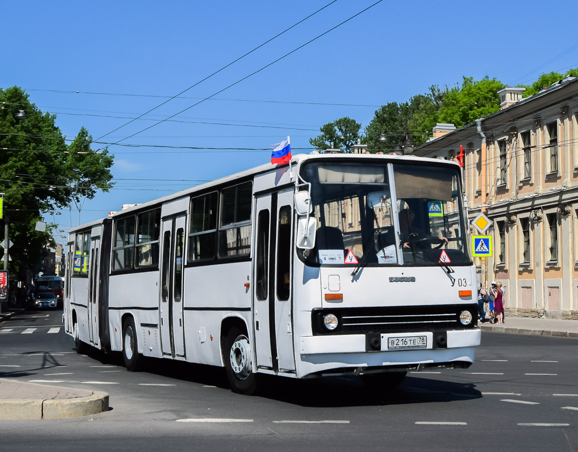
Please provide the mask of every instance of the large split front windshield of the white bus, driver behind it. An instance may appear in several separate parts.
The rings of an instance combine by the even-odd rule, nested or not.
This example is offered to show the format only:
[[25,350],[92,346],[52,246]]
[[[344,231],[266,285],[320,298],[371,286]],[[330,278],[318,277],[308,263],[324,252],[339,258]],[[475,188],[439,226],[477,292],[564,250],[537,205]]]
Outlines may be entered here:
[[312,184],[317,219],[316,245],[301,253],[307,264],[472,264],[457,169],[312,162],[302,177]]

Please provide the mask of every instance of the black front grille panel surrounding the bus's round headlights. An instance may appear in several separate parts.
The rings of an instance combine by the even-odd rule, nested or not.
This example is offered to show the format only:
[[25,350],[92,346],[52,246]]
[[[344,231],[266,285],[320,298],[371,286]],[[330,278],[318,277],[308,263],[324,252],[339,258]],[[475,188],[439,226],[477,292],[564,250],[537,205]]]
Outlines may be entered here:
[[[460,313],[465,309],[474,316],[468,326],[460,322]],[[477,326],[477,310],[477,304],[318,309],[313,311],[313,331],[314,334],[361,334],[466,329]],[[328,313],[338,317],[338,327],[333,331],[324,326],[323,317]]]

